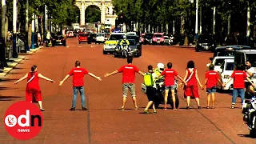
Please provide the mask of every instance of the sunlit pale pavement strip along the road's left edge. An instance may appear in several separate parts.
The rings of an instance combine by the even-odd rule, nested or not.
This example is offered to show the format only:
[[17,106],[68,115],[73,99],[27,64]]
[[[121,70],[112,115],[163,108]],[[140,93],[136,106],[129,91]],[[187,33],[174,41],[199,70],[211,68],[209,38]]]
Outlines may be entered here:
[[[35,49],[30,49],[30,51],[27,51],[26,54],[34,54],[36,51],[40,50],[43,46],[39,46]],[[23,59],[26,58],[26,55],[22,54],[19,55],[18,58],[10,58],[7,60],[7,67],[4,68],[2,72],[0,72],[0,80],[4,78],[7,74],[10,73],[10,70],[13,70],[15,66],[18,65],[19,62],[22,62]]]

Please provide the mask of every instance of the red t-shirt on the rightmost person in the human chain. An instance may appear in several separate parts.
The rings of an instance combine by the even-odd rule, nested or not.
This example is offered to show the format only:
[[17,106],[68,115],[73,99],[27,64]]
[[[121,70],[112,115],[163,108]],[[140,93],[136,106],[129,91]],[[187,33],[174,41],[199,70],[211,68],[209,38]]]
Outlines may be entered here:
[[247,78],[246,72],[242,70],[234,70],[233,74],[231,75],[231,78],[234,78],[234,89],[245,88],[245,78]]

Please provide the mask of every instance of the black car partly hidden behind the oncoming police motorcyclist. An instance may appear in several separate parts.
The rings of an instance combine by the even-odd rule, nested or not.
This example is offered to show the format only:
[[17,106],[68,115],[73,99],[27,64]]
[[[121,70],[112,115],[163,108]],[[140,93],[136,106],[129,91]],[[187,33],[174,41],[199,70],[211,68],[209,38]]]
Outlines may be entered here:
[[[128,55],[130,57],[140,57],[142,56],[142,47],[139,46],[138,42],[136,42],[134,39],[127,39],[130,43],[130,51]],[[114,50],[114,57],[122,57],[122,51],[118,42],[118,45],[116,46]]]

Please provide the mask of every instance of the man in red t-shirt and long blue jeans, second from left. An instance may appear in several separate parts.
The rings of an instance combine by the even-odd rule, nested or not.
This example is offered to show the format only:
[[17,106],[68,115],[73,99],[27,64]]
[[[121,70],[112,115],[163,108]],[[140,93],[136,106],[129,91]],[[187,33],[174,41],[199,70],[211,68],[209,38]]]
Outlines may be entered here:
[[80,67],[80,62],[76,61],[74,64],[74,68],[70,70],[70,73],[66,75],[66,77],[59,82],[59,86],[62,86],[63,82],[66,81],[67,78],[70,76],[73,76],[73,100],[72,100],[72,107],[70,110],[75,110],[75,106],[77,103],[77,95],[78,91],[81,95],[81,102],[82,102],[82,110],[86,109],[86,98],[85,98],[85,88],[84,88],[84,75],[89,74],[91,77],[98,79],[99,81],[102,81],[100,77],[95,76],[94,74],[90,73],[86,69]]

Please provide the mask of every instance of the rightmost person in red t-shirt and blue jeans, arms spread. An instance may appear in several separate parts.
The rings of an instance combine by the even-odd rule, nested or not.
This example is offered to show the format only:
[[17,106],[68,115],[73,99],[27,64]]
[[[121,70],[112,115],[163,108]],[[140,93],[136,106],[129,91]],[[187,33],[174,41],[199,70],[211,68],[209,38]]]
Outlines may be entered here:
[[[245,79],[247,79],[248,82],[252,86],[254,86],[254,83],[251,82],[250,78],[247,77],[246,72],[244,71],[245,66],[242,64],[238,64],[236,66],[236,69],[234,70],[233,74],[231,75],[230,79],[226,82],[230,82],[232,78],[234,78],[233,82],[233,97],[232,97],[232,106],[230,106],[230,109],[234,109],[234,105],[236,102],[236,99],[238,95],[240,95],[242,99],[242,103],[245,100]],[[226,86],[226,83],[223,84],[223,86]]]

